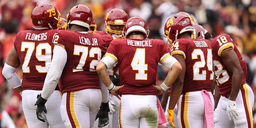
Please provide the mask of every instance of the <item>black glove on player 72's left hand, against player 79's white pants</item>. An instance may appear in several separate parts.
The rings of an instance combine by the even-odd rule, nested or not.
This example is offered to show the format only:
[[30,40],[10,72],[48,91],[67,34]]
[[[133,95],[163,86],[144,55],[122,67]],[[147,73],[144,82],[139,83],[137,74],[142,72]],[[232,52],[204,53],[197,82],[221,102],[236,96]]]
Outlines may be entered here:
[[42,122],[45,122],[45,118],[42,117],[42,112],[47,113],[46,107],[45,107],[45,103],[47,100],[45,100],[44,98],[41,97],[40,95],[37,95],[37,100],[36,100],[36,104],[37,108],[36,108],[36,116],[38,118],[38,120],[41,120]]

